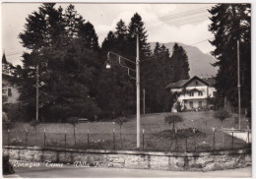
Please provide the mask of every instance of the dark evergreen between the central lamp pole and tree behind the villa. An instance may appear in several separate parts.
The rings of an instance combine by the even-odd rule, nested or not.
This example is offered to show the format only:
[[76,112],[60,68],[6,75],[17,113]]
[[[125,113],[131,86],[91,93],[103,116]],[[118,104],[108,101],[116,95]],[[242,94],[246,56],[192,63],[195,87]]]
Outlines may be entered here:
[[169,111],[169,92],[165,90],[169,84],[172,72],[168,49],[157,42],[154,53],[148,61],[143,85],[147,94],[147,111],[163,112]]

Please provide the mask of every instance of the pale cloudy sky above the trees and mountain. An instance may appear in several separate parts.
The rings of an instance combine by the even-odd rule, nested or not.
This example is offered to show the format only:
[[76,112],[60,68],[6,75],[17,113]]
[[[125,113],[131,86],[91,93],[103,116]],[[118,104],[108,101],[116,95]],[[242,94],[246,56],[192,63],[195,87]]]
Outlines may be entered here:
[[[115,29],[120,19],[128,26],[133,15],[138,13],[145,22],[148,42],[194,44],[204,53],[214,49],[206,40],[214,37],[208,30],[211,16],[207,11],[214,4],[72,4],[86,21],[94,25],[99,44],[109,30]],[[61,6],[65,10],[68,5],[57,3],[55,7]],[[18,35],[25,30],[26,18],[39,6],[40,3],[2,4],[2,50],[14,65],[22,65],[21,56],[26,50]]]

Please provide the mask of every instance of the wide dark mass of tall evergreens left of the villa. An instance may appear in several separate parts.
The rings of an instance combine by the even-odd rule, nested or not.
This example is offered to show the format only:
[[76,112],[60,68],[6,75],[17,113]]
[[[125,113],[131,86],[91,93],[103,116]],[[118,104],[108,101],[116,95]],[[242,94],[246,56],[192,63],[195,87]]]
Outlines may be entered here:
[[[175,44],[170,56],[168,49],[157,43],[152,51],[146,27],[137,13],[128,26],[120,20],[116,29],[108,32],[101,47],[93,22],[86,21],[73,5],[63,10],[55,8],[54,3],[44,3],[26,21],[19,37],[30,52],[23,54],[23,67],[18,66],[14,73],[21,92],[20,119],[35,118],[37,66],[40,121],[135,114],[135,80],[129,78],[116,56],[110,56],[111,70],[105,69],[105,63],[108,51],[135,61],[137,30],[142,61],[141,90],[146,89],[147,112],[170,111],[169,91],[164,88],[171,82],[189,78],[184,49]],[[135,69],[133,64],[126,65]]]

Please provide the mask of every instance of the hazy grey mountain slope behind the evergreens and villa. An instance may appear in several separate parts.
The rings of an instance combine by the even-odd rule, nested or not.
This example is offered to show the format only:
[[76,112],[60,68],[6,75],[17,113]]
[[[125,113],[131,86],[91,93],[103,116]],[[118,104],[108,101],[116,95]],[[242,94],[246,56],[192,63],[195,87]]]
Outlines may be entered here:
[[[186,44],[177,42],[178,45],[185,47],[188,46]],[[151,42],[151,49],[153,50],[156,46],[156,42]],[[170,55],[172,53],[172,47],[174,45],[174,42],[168,42],[168,43],[160,43],[164,44],[166,48],[169,49]],[[189,46],[185,48],[189,60],[189,75],[190,78],[194,76],[201,77],[201,75],[205,77],[212,77],[216,76],[217,68],[215,69],[211,64],[216,62],[215,57],[213,57],[210,53],[205,54],[200,49],[198,49],[195,46]]]

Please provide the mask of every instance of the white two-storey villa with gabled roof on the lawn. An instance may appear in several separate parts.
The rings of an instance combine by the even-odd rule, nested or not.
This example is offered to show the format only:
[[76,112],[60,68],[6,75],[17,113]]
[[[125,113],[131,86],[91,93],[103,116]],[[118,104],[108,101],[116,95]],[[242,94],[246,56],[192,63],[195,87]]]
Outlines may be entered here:
[[214,78],[203,79],[194,76],[189,80],[169,84],[165,89],[176,96],[171,112],[177,112],[177,104],[180,104],[181,110],[208,108],[208,98],[216,95],[215,83]]

